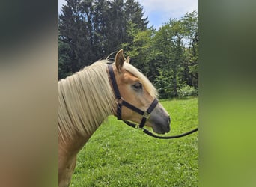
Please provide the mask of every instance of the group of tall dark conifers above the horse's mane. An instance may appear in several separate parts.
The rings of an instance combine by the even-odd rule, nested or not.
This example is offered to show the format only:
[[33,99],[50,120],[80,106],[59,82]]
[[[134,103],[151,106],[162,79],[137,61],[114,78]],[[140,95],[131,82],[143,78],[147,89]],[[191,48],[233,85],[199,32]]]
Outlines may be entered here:
[[[120,49],[121,43],[132,43],[127,23],[140,31],[147,30],[147,18],[134,0],[66,0],[59,15],[59,79]],[[61,48],[63,48],[61,46]],[[68,70],[66,67],[70,67]]]

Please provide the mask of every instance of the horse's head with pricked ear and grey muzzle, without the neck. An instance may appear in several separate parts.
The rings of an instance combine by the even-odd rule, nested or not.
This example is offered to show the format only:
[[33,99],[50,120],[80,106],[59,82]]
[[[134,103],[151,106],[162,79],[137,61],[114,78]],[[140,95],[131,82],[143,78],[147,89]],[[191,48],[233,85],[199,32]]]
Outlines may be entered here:
[[[120,108],[121,114],[116,111],[115,115],[120,115],[119,119],[130,120],[135,123],[141,123],[145,118],[143,126],[152,127],[153,131],[158,134],[169,132],[171,118],[165,108],[157,101],[156,88],[146,76],[129,64],[129,57],[124,58],[123,50],[115,55],[115,63],[112,68],[118,87],[116,89],[119,90],[121,96],[117,102],[117,108]],[[114,87],[112,81],[112,88],[115,90]],[[142,111],[148,111],[149,108],[150,114],[147,112],[141,114]]]

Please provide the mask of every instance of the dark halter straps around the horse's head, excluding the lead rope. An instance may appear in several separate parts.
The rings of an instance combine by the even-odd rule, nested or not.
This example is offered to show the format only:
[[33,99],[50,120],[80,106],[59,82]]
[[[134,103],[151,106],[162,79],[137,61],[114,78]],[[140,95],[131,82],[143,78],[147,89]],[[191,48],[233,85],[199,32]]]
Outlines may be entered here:
[[139,127],[139,128],[143,128],[144,124],[146,123],[146,121],[148,120],[148,118],[150,117],[150,113],[153,111],[154,108],[156,108],[156,105],[158,104],[158,100],[157,99],[153,99],[153,102],[151,103],[151,105],[147,108],[147,111],[142,111],[141,109],[135,107],[134,105],[129,104],[129,102],[126,102],[122,97],[121,94],[118,90],[118,84],[115,80],[115,73],[112,67],[112,64],[108,64],[109,67],[109,76],[112,82],[112,87],[113,90],[115,92],[115,98],[118,99],[118,107],[117,107],[117,117],[118,120],[122,120],[122,106],[126,106],[127,108],[131,109],[132,111],[137,112],[138,114],[141,114],[142,119],[141,119],[141,123],[136,126],[135,124],[127,121],[127,120],[123,120],[124,123],[127,123],[127,125],[132,126],[132,127]]

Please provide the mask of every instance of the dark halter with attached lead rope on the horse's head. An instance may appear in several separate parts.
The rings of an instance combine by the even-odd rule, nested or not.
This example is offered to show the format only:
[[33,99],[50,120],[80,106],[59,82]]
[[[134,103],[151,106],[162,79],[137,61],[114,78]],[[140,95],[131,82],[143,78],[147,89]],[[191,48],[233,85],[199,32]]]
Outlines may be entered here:
[[136,125],[135,123],[129,122],[128,120],[123,120],[124,123],[126,123],[128,126],[132,126],[133,128],[136,129],[143,129],[143,132],[146,133],[147,135],[150,135],[154,138],[160,138],[160,139],[171,139],[171,138],[180,138],[186,135],[190,135],[194,132],[198,131],[198,128],[192,129],[189,132],[180,134],[180,135],[173,135],[173,136],[158,136],[158,135],[154,135],[152,132],[148,131],[147,129],[144,129],[144,125],[146,123],[146,121],[148,120],[148,118],[150,117],[150,113],[153,111],[154,108],[156,108],[156,105],[158,104],[158,100],[155,98],[153,99],[153,102],[151,103],[151,105],[147,108],[147,111],[142,111],[141,109],[135,107],[132,104],[129,104],[129,102],[126,102],[124,100],[124,98],[121,97],[121,94],[118,90],[118,84],[115,80],[115,73],[112,67],[112,64],[108,64],[108,68],[109,68],[109,76],[112,82],[112,86],[113,86],[113,90],[115,92],[115,98],[118,100],[118,107],[117,107],[117,117],[118,120],[122,120],[122,106],[126,106],[127,108],[131,109],[132,111],[137,112],[138,114],[141,114],[142,119],[141,119],[141,123],[139,123],[139,125]]

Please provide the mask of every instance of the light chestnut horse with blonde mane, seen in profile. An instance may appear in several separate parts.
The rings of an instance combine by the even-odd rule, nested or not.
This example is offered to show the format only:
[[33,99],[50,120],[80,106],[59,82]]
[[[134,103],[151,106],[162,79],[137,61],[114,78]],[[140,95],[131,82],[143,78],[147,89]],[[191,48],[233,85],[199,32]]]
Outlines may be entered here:
[[58,82],[58,186],[69,186],[77,153],[109,115],[140,126],[143,121],[143,126],[150,126],[157,134],[169,132],[171,118],[157,97],[156,88],[147,77],[129,64],[129,57],[124,58],[123,49],[117,52],[112,64],[107,59],[100,60],[61,79]]

